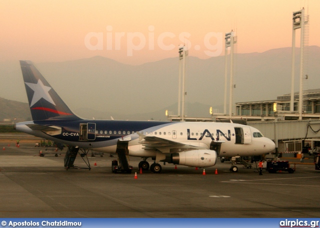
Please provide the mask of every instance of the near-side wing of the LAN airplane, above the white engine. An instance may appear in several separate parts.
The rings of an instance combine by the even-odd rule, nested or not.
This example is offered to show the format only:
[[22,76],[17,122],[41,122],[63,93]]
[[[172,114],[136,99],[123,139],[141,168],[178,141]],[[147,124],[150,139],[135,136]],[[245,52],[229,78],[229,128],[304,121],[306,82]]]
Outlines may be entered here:
[[181,152],[184,150],[191,149],[208,149],[201,146],[188,145],[181,142],[175,142],[168,139],[156,137],[156,136],[146,136],[137,132],[139,135],[139,143],[144,147],[143,149],[158,149],[163,153]]

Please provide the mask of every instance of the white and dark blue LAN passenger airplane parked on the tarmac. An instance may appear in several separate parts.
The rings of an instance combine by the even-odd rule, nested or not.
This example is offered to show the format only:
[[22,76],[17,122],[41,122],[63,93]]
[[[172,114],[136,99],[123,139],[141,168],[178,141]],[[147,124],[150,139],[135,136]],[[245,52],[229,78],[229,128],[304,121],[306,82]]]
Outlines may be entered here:
[[[83,119],[69,109],[32,61],[20,60],[20,66],[32,121],[14,127],[66,144],[66,169],[74,167],[77,154],[83,159],[89,150],[117,153],[126,167],[127,155],[141,157],[139,169],[159,173],[159,162],[204,168],[215,165],[217,157],[262,155],[275,148],[258,129],[232,122]],[[151,165],[147,158],[153,160]],[[231,165],[231,171],[238,170]]]

